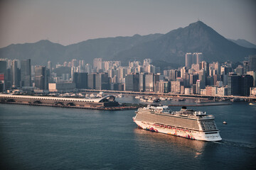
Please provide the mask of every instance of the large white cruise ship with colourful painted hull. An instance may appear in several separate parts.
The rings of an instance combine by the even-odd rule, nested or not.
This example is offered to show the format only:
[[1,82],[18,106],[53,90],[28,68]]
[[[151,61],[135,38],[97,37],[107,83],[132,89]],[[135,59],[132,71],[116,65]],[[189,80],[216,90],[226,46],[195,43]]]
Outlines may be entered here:
[[186,109],[171,111],[168,106],[139,108],[133,120],[144,130],[161,132],[193,140],[220,141],[219,130],[213,115]]

